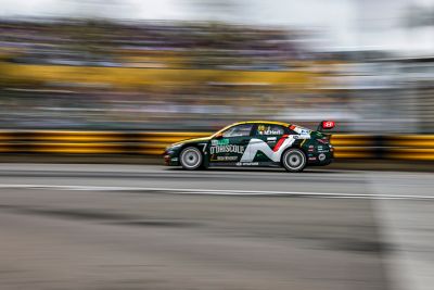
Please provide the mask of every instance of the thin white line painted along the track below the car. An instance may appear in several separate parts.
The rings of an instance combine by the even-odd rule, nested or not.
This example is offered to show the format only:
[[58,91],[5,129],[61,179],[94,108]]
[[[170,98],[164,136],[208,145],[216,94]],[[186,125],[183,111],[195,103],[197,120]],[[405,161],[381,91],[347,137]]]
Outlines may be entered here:
[[310,191],[261,191],[230,189],[196,188],[153,188],[153,187],[102,187],[102,186],[62,186],[62,185],[0,185],[0,189],[49,189],[49,190],[87,190],[87,191],[150,191],[175,194],[210,194],[210,196],[286,196],[316,197],[335,199],[398,199],[398,200],[434,200],[434,196],[413,194],[369,194],[345,192],[310,192]]

